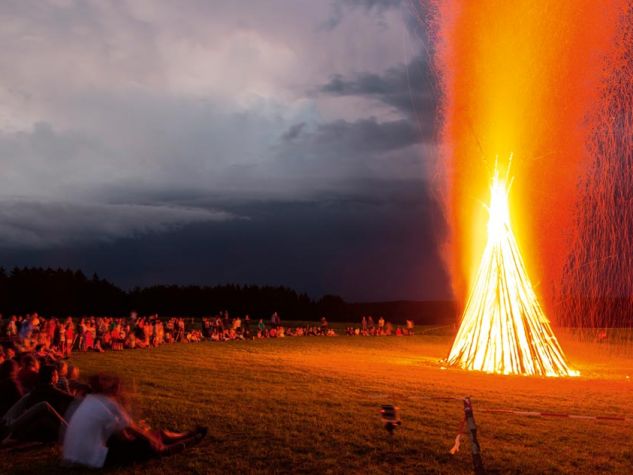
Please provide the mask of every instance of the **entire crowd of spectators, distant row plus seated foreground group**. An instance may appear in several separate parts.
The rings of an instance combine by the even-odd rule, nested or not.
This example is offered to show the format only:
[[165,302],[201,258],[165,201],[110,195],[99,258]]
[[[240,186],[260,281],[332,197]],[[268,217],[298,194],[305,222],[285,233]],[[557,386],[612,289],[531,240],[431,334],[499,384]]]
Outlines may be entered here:
[[[284,325],[277,313],[269,321],[230,318],[228,312],[200,321],[158,318],[44,318],[36,313],[0,316],[0,446],[59,442],[69,466],[100,468],[170,455],[198,443],[206,428],[188,432],[152,430],[127,409],[118,377],[97,374],[80,380],[69,364],[73,351],[152,348],[165,343],[203,340],[254,340],[336,336],[325,317],[319,322]],[[362,317],[350,336],[413,335],[413,322],[394,327],[383,317]]]

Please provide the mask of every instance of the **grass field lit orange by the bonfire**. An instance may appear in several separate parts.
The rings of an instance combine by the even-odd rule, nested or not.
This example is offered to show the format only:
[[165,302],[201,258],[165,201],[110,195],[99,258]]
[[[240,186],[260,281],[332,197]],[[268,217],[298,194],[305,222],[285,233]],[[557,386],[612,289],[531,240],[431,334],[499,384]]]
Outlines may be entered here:
[[[84,375],[119,373],[153,425],[209,427],[185,453],[123,473],[471,473],[448,453],[470,395],[484,464],[497,473],[631,473],[629,423],[486,413],[516,408],[630,415],[633,360],[565,341],[582,376],[504,377],[442,369],[451,338],[286,338],[78,354]],[[401,409],[393,453],[378,414]],[[1,473],[63,473],[53,448],[0,456]]]

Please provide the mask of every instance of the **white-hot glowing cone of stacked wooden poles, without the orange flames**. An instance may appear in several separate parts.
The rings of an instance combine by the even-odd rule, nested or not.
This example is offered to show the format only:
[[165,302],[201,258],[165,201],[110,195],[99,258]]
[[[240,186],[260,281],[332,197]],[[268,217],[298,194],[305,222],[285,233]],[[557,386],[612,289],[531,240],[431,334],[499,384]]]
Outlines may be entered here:
[[[509,171],[509,169],[508,169]],[[510,224],[508,176],[490,187],[488,241],[448,363],[501,374],[575,376],[543,312]]]

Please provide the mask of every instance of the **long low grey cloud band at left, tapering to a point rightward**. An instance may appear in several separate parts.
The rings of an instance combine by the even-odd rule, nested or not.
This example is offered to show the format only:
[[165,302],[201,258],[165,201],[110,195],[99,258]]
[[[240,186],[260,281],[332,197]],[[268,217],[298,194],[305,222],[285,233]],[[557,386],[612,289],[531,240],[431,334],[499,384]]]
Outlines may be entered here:
[[176,206],[5,200],[0,203],[0,243],[41,249],[109,242],[234,218],[225,211]]

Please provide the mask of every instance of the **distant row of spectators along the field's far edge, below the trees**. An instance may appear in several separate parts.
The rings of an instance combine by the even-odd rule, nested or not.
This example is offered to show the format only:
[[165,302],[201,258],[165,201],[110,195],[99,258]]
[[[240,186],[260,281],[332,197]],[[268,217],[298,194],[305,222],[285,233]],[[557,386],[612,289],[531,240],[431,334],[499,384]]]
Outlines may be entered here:
[[[336,336],[336,331],[322,317],[316,324],[284,325],[275,312],[269,321],[254,322],[248,315],[229,317],[227,311],[213,317],[194,319],[173,317],[161,319],[158,315],[139,317],[136,313],[127,318],[67,317],[44,318],[37,313],[11,316],[0,315],[0,341],[20,353],[33,352],[54,360],[68,358],[73,351],[153,348],[165,343],[197,343],[208,341],[253,340],[300,336]],[[383,317],[374,321],[363,316],[360,326],[347,327],[348,336],[403,336],[413,335],[413,322],[394,326]],[[0,358],[2,352],[0,351]],[[1,360],[0,360],[1,361]]]

